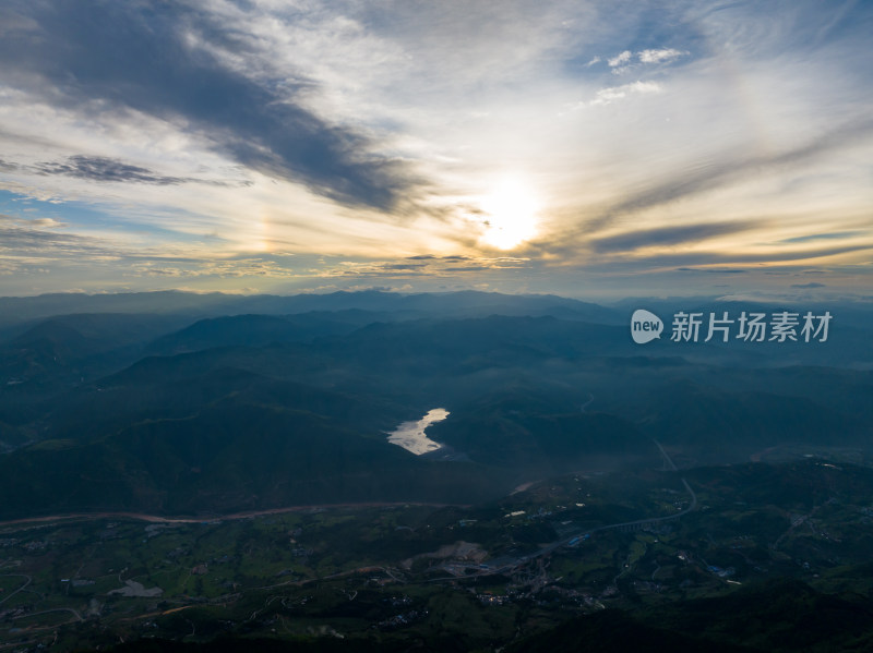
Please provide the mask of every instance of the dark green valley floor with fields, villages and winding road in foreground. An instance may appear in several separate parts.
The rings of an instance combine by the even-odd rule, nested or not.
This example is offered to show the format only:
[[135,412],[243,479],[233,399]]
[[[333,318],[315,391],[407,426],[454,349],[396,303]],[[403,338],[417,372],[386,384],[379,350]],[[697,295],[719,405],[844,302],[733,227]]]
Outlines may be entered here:
[[[561,651],[584,637],[602,651],[639,638],[826,651],[871,641],[873,471],[813,459],[685,476],[697,510],[606,530],[669,516],[665,497],[686,499],[678,474],[571,474],[469,508],[7,525],[0,644],[57,634],[58,650],[121,637],[142,643],[118,650],[163,638],[217,651],[267,637],[344,651]],[[564,545],[542,548],[554,541]]]

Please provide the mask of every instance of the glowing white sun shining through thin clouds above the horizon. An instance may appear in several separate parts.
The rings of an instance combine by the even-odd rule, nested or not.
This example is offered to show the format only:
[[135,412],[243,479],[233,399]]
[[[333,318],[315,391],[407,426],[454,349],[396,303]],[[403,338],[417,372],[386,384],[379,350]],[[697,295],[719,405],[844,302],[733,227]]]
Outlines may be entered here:
[[485,244],[514,250],[537,233],[537,201],[516,179],[506,179],[486,195],[480,204],[485,214]]

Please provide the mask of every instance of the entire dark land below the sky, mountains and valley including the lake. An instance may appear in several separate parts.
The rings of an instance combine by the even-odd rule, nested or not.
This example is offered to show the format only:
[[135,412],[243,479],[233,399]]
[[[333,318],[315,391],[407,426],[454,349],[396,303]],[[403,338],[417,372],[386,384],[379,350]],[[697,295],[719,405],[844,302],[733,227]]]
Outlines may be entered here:
[[[862,322],[833,327],[825,365],[641,347],[621,311],[560,298],[220,311],[7,326],[0,646],[873,638],[873,376],[839,363]],[[769,616],[736,629],[737,602]],[[844,627],[785,644],[816,610]]]

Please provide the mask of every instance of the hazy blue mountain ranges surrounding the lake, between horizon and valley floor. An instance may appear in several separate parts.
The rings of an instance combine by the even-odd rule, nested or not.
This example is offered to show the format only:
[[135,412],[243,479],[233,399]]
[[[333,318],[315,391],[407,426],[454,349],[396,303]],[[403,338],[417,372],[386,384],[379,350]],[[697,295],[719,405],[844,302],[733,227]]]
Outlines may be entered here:
[[[466,503],[555,473],[660,469],[653,440],[690,468],[863,457],[873,436],[862,326],[823,347],[638,346],[623,311],[473,291],[0,306],[23,321],[0,338],[7,516]],[[50,309],[69,313],[34,317]],[[445,456],[387,442],[434,408],[450,412],[428,431]]]

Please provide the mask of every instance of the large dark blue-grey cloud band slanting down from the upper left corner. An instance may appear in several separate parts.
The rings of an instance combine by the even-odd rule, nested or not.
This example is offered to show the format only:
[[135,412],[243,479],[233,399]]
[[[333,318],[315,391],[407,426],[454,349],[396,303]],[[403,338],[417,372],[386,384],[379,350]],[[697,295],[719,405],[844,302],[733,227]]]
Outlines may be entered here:
[[[222,57],[225,48],[244,57],[246,43],[234,25],[193,5],[15,7],[38,27],[0,39],[0,66],[50,104],[107,113],[133,109],[184,123],[238,162],[349,206],[390,209],[416,183],[400,160],[376,152],[372,133],[332,124],[307,108],[316,88],[304,76],[260,78],[239,57],[236,66]],[[113,169],[73,164],[67,173],[111,176]],[[150,177],[127,174],[139,174],[140,182]],[[145,183],[172,182],[157,176]]]

